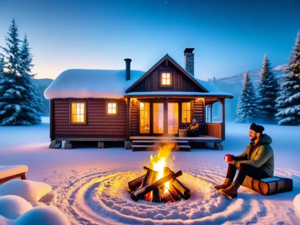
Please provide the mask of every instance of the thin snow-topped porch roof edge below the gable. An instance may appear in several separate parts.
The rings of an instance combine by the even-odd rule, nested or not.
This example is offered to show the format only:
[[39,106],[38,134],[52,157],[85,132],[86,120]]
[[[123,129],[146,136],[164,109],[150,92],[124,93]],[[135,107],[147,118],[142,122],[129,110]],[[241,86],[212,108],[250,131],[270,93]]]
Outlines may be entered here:
[[152,95],[152,96],[159,96],[159,95],[193,95],[195,97],[199,96],[199,97],[215,97],[215,96],[228,96],[229,98],[232,97],[232,94],[229,94],[227,92],[222,92],[222,91],[218,91],[218,92],[191,92],[191,91],[144,91],[144,92],[129,92],[126,93],[125,96],[143,96],[143,95]]

